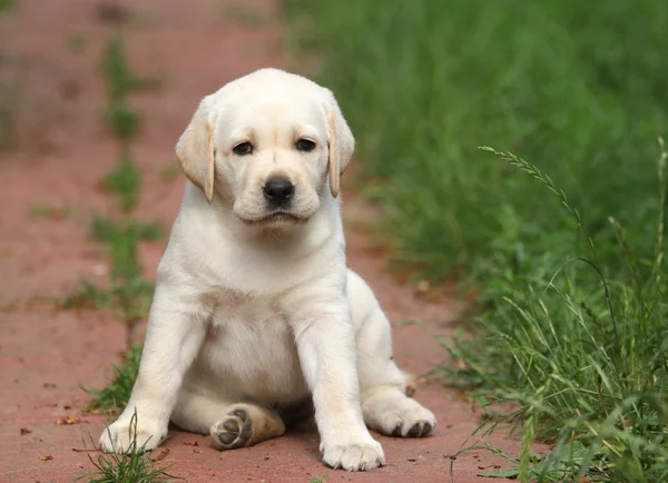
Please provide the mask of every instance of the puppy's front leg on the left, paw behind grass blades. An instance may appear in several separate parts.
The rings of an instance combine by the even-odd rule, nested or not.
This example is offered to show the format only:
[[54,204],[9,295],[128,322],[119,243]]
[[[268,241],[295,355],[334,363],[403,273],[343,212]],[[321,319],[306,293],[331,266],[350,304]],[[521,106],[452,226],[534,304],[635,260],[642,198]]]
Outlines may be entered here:
[[[126,452],[132,440],[137,448],[144,445],[151,450],[167,434],[184,374],[206,333],[207,314],[198,308],[191,302],[180,302],[169,287],[158,285],[132,395],[122,414],[100,436],[102,451]],[[130,427],[135,412],[136,425]]]

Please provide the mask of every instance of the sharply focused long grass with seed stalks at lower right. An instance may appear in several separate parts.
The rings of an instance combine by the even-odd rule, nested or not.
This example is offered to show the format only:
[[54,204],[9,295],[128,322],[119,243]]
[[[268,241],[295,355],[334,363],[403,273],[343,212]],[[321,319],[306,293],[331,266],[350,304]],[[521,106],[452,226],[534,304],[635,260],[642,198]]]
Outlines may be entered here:
[[[660,149],[658,210],[662,211],[667,188],[662,141]],[[513,165],[548,186],[580,220],[566,197],[537,176],[530,164],[492,152],[515,159]],[[564,264],[549,278],[522,278],[522,285],[510,286],[502,295],[498,312],[485,312],[474,321],[473,337],[459,336],[444,344],[466,367],[443,367],[451,381],[477,386],[485,405],[520,403],[504,420],[521,424],[517,462],[521,481],[668,477],[668,304],[662,295],[667,287],[656,270],[639,268],[627,235],[613,220],[612,226],[627,274],[607,279],[595,263],[577,258],[573,262],[583,262],[583,270]],[[658,246],[662,238],[661,228],[656,235]],[[656,266],[661,254],[658,250],[654,260],[641,260],[642,265]],[[536,440],[557,444],[530,470]]]

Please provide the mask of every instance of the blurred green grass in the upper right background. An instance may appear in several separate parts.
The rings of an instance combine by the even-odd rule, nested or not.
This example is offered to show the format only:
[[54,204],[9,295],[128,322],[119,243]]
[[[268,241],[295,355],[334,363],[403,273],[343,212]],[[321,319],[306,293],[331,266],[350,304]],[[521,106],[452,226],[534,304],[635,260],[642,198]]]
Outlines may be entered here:
[[639,243],[651,238],[668,3],[285,3],[297,46],[324,55],[318,79],[338,95],[358,166],[385,181],[370,195],[402,241],[395,263],[482,277],[499,252],[521,269],[546,248],[571,252],[568,214],[481,144],[550,172],[611,258],[609,215]]

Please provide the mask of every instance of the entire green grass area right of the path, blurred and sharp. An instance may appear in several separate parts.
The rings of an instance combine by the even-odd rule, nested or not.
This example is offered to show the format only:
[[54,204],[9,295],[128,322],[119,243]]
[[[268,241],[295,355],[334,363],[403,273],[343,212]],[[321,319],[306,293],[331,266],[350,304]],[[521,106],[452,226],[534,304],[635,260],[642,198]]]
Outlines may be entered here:
[[668,3],[284,3],[356,135],[392,264],[480,292],[444,344],[465,368],[442,371],[514,423],[508,471],[665,479]]

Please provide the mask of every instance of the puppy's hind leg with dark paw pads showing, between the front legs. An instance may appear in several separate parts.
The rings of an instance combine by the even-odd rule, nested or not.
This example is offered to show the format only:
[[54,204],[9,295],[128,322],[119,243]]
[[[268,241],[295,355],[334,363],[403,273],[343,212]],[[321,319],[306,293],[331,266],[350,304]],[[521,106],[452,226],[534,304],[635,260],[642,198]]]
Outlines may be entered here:
[[252,446],[285,433],[273,410],[250,403],[225,403],[181,392],[171,422],[199,434],[210,434],[218,450]]

